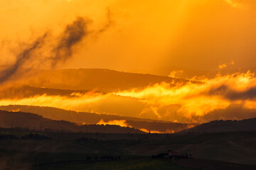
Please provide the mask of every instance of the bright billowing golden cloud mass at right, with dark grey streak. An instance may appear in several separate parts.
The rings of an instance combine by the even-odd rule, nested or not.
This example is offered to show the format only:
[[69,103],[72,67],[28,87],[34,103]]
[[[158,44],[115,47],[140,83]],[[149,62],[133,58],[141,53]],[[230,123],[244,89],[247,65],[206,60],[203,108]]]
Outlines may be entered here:
[[[206,80],[204,84],[187,84],[170,88],[169,84],[154,84],[143,90],[119,91],[119,96],[138,98],[147,104],[143,113],[152,111],[162,120],[177,118],[198,121],[204,115],[232,104],[254,101],[256,97],[254,74],[232,74]],[[243,105],[246,107],[246,104]],[[252,106],[252,105],[250,105]],[[164,109],[164,113],[161,113]],[[254,107],[256,109],[256,106]],[[241,113],[242,115],[242,113]],[[218,119],[218,118],[216,118]]]

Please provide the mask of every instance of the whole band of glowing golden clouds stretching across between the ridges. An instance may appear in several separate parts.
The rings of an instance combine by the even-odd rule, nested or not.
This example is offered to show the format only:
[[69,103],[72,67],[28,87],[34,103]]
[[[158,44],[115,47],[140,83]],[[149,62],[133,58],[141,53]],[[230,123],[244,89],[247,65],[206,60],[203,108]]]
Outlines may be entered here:
[[[247,72],[223,77],[218,75],[214,79],[205,79],[202,84],[188,82],[170,86],[162,82],[107,94],[90,91],[85,94],[70,92],[63,96],[43,94],[18,98],[14,94],[12,98],[1,98],[0,105],[50,106],[176,123],[204,123],[218,119],[253,118],[256,116],[255,98],[256,77]],[[122,124],[125,125],[124,122]]]

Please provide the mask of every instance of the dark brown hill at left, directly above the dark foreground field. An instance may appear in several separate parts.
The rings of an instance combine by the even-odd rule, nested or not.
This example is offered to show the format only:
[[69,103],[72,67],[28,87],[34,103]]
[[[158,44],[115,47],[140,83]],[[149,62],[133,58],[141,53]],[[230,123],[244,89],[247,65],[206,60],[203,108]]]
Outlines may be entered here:
[[43,116],[33,113],[9,111],[0,111],[0,128],[26,128],[58,132],[144,133],[134,128],[118,125],[78,125],[64,120],[43,118]]

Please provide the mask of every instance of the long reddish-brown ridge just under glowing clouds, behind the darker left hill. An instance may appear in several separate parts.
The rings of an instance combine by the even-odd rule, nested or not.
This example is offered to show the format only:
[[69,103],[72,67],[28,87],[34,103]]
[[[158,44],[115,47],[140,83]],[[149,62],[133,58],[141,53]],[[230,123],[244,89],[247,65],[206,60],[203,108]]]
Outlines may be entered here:
[[4,111],[22,111],[28,113],[36,113],[42,115],[44,118],[50,118],[53,120],[67,120],[73,123],[86,123],[96,124],[100,120],[109,122],[110,120],[125,120],[127,125],[137,129],[146,129],[151,131],[159,132],[178,132],[185,130],[191,126],[198,125],[196,123],[172,123],[162,120],[151,120],[142,118],[132,118],[119,115],[107,115],[107,114],[96,114],[96,113],[85,113],[66,111],[60,108],[41,107],[41,106],[0,106],[1,110]]

